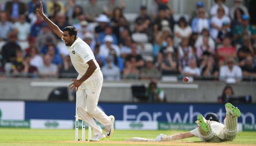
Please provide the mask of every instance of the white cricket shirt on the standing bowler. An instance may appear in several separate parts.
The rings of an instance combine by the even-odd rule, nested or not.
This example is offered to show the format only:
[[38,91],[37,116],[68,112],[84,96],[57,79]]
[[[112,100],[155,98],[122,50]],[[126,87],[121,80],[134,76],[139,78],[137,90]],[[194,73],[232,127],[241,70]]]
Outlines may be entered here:
[[71,46],[68,46],[68,54],[70,56],[74,68],[79,73],[78,79],[86,73],[89,67],[87,62],[91,59],[93,59],[95,65],[97,66],[97,69],[94,72],[100,70],[99,64],[95,60],[93,51],[91,51],[90,46],[87,45],[87,43],[79,37]]

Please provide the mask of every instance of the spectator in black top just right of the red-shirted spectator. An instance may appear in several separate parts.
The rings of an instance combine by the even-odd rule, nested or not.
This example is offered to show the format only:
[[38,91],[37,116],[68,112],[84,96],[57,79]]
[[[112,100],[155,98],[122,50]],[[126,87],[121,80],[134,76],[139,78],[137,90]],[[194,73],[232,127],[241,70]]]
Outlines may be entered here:
[[244,59],[248,55],[253,55],[254,51],[251,44],[251,39],[248,35],[243,37],[242,46],[237,50],[237,57],[240,65],[244,65]]

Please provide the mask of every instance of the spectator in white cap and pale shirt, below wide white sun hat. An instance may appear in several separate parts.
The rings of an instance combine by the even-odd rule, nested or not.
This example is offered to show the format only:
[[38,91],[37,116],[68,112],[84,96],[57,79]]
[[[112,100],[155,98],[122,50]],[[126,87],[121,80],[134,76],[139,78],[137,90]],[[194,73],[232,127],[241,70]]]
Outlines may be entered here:
[[114,55],[117,57],[120,56],[120,49],[117,45],[113,44],[114,40],[111,35],[106,35],[103,41],[104,43],[99,46],[99,55],[107,58],[109,55],[112,55],[111,53],[114,51]]

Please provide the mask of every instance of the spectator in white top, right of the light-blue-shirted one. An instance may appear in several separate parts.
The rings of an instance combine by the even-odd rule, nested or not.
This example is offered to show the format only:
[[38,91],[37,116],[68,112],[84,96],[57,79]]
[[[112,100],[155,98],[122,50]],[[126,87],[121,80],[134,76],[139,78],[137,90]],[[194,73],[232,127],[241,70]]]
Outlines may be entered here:
[[228,23],[228,26],[230,26],[230,19],[228,16],[225,15],[224,8],[219,7],[218,8],[218,14],[216,16],[213,16],[211,19],[211,37],[216,39],[218,32],[222,29],[223,22]]

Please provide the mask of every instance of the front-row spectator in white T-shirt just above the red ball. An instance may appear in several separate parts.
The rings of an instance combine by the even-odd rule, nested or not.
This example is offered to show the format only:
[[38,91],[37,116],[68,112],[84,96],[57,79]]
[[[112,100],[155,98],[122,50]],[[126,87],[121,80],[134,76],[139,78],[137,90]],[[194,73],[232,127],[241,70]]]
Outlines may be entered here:
[[200,76],[201,75],[200,69],[197,68],[196,66],[195,58],[189,59],[189,66],[185,66],[182,72],[184,76]]

